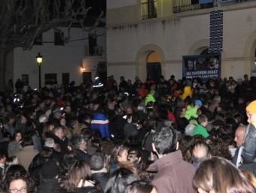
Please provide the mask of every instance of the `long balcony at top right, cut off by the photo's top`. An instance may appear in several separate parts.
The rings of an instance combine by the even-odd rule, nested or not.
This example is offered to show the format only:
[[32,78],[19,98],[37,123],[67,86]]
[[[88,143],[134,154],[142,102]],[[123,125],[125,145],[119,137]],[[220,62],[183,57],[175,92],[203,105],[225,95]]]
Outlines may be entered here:
[[255,2],[255,0],[173,0],[173,14],[236,5],[244,2]]

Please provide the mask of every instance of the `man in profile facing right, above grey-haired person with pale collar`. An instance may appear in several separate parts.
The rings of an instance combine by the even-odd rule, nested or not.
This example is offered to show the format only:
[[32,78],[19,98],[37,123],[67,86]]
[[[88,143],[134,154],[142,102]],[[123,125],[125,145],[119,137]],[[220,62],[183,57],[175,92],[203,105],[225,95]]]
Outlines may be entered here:
[[84,139],[81,134],[74,134],[70,139],[72,146],[72,151],[78,155],[81,160],[85,161],[87,164],[90,164],[90,155],[87,153],[87,140]]

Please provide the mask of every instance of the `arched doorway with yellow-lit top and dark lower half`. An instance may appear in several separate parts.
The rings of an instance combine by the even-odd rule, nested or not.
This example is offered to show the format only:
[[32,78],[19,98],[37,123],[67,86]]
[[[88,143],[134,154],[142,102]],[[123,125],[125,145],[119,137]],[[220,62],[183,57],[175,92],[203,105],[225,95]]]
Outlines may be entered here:
[[158,82],[162,75],[162,68],[160,63],[160,55],[157,52],[151,52],[147,58],[147,77],[151,77],[151,80]]

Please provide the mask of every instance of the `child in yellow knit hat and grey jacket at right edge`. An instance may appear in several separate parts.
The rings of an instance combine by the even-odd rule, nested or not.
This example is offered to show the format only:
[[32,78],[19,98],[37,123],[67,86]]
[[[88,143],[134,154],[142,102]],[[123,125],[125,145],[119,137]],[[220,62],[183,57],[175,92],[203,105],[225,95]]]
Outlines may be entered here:
[[250,171],[256,175],[255,170],[253,171],[253,168],[256,168],[256,100],[248,104],[246,115],[248,116],[248,125],[245,131],[240,167],[245,167],[246,170],[251,169]]

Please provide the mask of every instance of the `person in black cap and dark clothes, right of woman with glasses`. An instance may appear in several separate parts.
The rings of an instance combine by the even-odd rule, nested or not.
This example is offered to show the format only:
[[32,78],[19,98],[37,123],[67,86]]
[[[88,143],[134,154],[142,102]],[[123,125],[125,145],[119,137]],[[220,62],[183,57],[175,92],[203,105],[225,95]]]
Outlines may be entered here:
[[47,161],[41,169],[42,182],[38,185],[38,193],[50,193],[58,185],[57,176],[59,175],[59,166],[55,161]]

